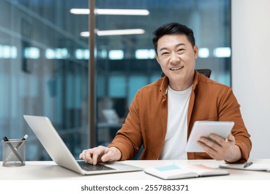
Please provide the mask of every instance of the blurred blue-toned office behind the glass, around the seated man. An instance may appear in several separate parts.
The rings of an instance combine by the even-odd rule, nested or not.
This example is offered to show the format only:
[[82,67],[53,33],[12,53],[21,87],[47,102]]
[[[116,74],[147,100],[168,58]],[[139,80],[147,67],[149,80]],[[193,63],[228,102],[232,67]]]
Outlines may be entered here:
[[[165,23],[190,26],[200,48],[197,69],[211,69],[213,80],[232,85],[231,1],[98,0],[93,56],[90,1],[0,0],[0,137],[28,134],[27,160],[50,157],[24,114],[48,116],[76,158],[90,145],[107,145],[136,91],[161,77],[152,32]],[[108,9],[142,12],[114,15]],[[128,29],[135,31],[104,34]],[[89,85],[90,58],[94,87]],[[89,94],[95,94],[94,115],[89,115]]]

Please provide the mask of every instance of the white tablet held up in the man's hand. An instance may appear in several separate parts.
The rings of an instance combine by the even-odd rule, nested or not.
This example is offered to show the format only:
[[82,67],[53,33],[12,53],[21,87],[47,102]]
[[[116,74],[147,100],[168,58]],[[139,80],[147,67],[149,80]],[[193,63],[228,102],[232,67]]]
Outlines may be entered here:
[[197,143],[201,136],[208,137],[213,133],[226,139],[233,125],[235,125],[233,121],[196,121],[188,138],[186,152],[205,152]]

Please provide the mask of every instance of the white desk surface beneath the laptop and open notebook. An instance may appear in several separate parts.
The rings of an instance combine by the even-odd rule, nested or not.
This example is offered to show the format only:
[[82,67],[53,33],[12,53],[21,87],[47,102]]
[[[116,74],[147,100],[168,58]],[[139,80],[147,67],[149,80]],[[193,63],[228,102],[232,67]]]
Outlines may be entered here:
[[[173,162],[180,165],[190,164],[205,164],[206,166],[217,167],[222,164],[223,161],[215,160],[130,160],[122,161],[125,164],[132,164],[141,168],[163,166],[166,164],[172,164]],[[269,164],[270,159],[255,159],[253,163]],[[270,173],[267,172],[255,172],[247,170],[228,170],[230,175],[215,176],[215,177],[200,177],[199,179],[213,179],[213,180],[270,180]],[[131,172],[131,173],[114,173],[105,175],[79,175],[71,170],[58,166],[53,161],[26,161],[26,166],[22,167],[3,167],[2,161],[0,161],[0,180],[153,180],[159,179],[152,175],[147,175],[143,171]]]

